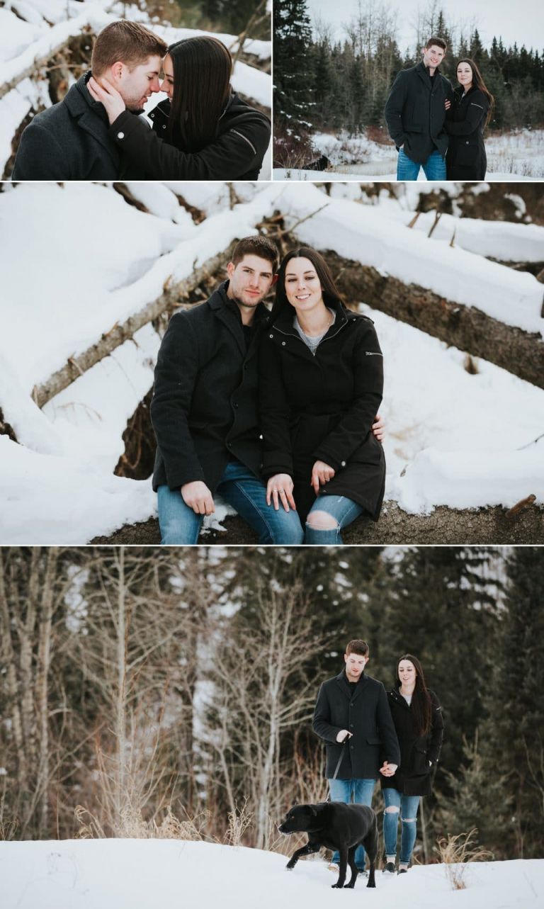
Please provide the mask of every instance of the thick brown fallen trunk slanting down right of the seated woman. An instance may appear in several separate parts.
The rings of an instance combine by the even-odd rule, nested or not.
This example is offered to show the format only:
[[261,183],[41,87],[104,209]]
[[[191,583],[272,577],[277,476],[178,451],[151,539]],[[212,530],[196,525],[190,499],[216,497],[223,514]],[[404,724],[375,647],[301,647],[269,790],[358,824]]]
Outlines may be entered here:
[[544,341],[540,335],[506,325],[475,306],[454,303],[425,287],[381,275],[371,265],[343,259],[331,250],[323,255],[350,303],[367,303],[544,388]]

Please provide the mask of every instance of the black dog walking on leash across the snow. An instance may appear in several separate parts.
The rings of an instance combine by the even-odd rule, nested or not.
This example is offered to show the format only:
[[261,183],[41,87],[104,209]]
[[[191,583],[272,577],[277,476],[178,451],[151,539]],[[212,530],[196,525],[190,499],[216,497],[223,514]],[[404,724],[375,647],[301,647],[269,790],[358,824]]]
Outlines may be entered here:
[[[343,804],[343,802],[321,802],[320,804],[298,804],[289,811],[278,830],[282,834],[308,834],[308,843],[297,849],[287,863],[290,871],[302,855],[319,852],[321,846],[338,849],[340,853],[340,874],[333,887],[354,887],[357,880],[355,850],[363,845],[371,862],[368,887],[375,887],[374,871],[378,857],[378,823],[376,814],[365,804]],[[345,884],[347,865],[351,868],[351,880]]]

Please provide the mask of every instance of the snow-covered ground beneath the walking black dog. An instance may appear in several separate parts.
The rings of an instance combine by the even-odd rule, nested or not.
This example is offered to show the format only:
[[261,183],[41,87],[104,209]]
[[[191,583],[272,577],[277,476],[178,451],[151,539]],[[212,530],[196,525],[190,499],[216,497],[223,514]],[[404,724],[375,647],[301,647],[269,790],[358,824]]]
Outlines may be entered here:
[[373,909],[539,909],[544,860],[470,864],[453,890],[444,865],[401,876],[376,874],[376,888],[331,892],[335,876],[320,858],[292,872],[283,855],[179,840],[62,840],[0,843],[3,909],[277,909],[331,904]]

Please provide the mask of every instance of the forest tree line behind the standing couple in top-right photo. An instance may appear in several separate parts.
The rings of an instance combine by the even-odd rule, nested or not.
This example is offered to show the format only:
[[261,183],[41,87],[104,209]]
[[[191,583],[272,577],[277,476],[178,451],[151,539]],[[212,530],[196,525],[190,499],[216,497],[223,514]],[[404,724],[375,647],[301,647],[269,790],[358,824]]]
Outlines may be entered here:
[[[493,37],[481,44],[477,28],[464,33],[450,25],[431,3],[417,24],[416,41],[401,50],[395,17],[386,6],[359,5],[346,26],[348,37],[334,40],[330,26],[318,22],[312,30],[306,0],[274,3],[274,117],[276,135],[297,142],[315,130],[388,137],[383,110],[394,78],[420,61],[420,48],[431,35],[440,35],[448,52],[440,72],[455,87],[456,64],[475,60],[495,97],[491,130],[541,128],[544,125],[544,55]],[[281,145],[281,143],[280,143]]]

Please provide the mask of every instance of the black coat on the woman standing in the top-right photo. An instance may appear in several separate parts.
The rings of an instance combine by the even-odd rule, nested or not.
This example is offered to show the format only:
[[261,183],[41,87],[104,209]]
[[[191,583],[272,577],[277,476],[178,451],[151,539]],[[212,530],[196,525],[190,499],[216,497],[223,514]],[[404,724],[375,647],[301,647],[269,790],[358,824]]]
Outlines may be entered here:
[[488,159],[483,144],[483,131],[490,103],[479,88],[463,96],[456,88],[448,111],[445,128],[450,136],[446,168],[449,180],[483,180]]

